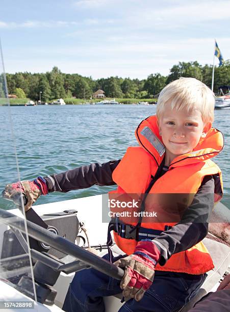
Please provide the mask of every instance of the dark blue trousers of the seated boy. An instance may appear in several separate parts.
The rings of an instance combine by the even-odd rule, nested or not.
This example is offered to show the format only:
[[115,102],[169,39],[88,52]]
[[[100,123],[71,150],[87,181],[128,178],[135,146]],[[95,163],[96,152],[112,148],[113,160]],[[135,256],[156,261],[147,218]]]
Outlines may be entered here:
[[[114,261],[123,256],[114,257]],[[104,256],[108,260],[108,254]],[[139,301],[126,301],[119,312],[176,311],[198,292],[206,274],[155,271],[154,282]],[[68,312],[104,312],[103,297],[121,293],[120,281],[95,269],[77,272],[62,309]],[[116,312],[116,311],[114,311]]]

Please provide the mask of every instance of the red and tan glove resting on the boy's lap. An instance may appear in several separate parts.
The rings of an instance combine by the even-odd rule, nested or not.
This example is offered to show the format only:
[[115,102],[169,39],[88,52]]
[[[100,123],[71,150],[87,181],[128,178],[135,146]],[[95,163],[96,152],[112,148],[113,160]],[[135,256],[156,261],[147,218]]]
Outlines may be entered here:
[[155,267],[160,258],[160,251],[151,240],[137,243],[133,254],[121,258],[114,264],[124,268],[120,282],[125,298],[140,301],[154,280]]

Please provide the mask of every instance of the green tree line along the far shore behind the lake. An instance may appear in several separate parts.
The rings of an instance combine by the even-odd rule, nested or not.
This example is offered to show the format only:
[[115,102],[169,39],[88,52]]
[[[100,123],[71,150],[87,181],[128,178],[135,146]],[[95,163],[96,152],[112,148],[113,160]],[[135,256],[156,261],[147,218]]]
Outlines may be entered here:
[[[143,80],[118,76],[93,80],[91,76],[62,73],[58,67],[46,73],[7,73],[6,77],[9,94],[34,100],[38,100],[39,95],[42,101],[72,96],[90,98],[98,89],[104,90],[107,97],[141,99],[156,97],[168,83],[179,77],[194,77],[211,88],[212,66],[207,64],[201,66],[197,61],[179,62],[172,66],[168,76],[155,73]],[[221,85],[230,85],[229,61],[215,68],[215,93],[218,93],[218,87]]]

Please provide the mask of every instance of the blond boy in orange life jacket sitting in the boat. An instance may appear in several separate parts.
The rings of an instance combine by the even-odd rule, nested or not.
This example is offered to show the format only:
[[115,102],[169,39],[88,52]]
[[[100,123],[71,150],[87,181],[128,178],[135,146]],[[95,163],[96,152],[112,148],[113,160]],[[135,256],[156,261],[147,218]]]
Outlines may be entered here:
[[[159,218],[163,216],[156,221],[140,215],[134,223],[112,219],[108,242],[113,229],[116,244],[126,253],[114,259],[125,268],[120,284],[93,269],[78,272],[64,310],[104,311],[103,296],[122,289],[123,296],[131,299],[120,312],[175,311],[197,293],[205,273],[213,268],[200,241],[208,233],[214,202],[222,196],[221,172],[210,158],[223,148],[223,137],[212,128],[213,119],[211,90],[196,79],[181,78],[161,91],[157,116],[139,124],[140,146],[129,147],[122,160],[6,186],[5,197],[25,193],[28,210],[41,194],[117,184],[111,196],[134,194],[141,199],[140,212],[157,209]],[[167,194],[181,194],[181,199],[170,203]],[[111,253],[105,258],[112,260]]]

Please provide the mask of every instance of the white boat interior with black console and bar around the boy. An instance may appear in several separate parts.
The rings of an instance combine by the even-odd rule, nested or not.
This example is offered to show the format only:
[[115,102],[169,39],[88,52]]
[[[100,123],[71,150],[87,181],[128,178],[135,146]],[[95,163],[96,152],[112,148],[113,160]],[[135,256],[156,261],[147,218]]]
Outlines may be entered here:
[[[28,304],[32,302],[39,311],[56,311],[61,310],[69,283],[79,270],[92,267],[121,279],[123,270],[101,259],[108,252],[105,242],[108,224],[101,223],[102,197],[36,205],[26,214],[26,228],[20,210],[0,210],[0,283],[7,292],[2,292],[0,301],[17,298]],[[219,209],[226,209],[221,203],[218,205]],[[208,272],[199,293],[181,311],[188,311],[203,295],[215,291],[228,270],[229,247],[209,237],[203,243],[212,255],[215,268]],[[88,247],[94,252],[89,252]],[[114,255],[122,253],[115,244],[112,250]],[[105,297],[106,311],[117,311],[121,298],[121,294]]]

